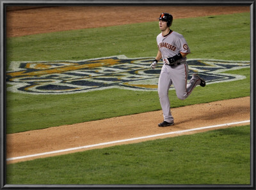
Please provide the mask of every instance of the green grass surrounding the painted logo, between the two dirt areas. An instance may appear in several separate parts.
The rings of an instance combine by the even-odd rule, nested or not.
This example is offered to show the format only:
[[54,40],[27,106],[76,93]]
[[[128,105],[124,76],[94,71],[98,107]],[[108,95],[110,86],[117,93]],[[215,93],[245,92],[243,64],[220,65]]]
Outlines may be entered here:
[[[10,61],[82,60],[120,54],[154,57],[157,53],[156,36],[159,34],[157,23],[10,38],[7,40],[8,65]],[[187,29],[182,29],[184,25]],[[173,22],[173,30],[182,33],[188,41],[192,52],[188,59],[250,61],[250,13],[177,19]],[[250,69],[237,72],[247,78],[230,84],[209,85],[204,91],[193,93],[186,101],[180,101],[175,92],[170,92],[172,106],[250,96]],[[157,92],[119,89],[58,96],[7,92],[6,99],[7,133],[161,109]]]

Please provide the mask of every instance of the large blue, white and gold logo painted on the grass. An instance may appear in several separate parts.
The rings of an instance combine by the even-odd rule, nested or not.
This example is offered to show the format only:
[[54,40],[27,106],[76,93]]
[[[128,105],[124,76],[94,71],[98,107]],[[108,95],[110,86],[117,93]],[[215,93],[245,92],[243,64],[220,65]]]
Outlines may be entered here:
[[[109,88],[157,91],[161,62],[156,69],[151,69],[152,59],[154,57],[130,59],[118,55],[82,61],[11,62],[6,80],[12,86],[7,90],[31,94],[68,94]],[[188,59],[188,64],[189,77],[200,73],[207,85],[242,80],[245,78],[242,75],[224,72],[250,68],[249,61]]]

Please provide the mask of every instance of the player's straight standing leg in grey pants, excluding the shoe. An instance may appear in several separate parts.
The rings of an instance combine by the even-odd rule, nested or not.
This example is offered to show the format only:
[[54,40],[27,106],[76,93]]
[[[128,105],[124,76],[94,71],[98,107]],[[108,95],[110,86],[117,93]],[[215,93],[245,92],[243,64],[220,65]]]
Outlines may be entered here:
[[170,100],[168,96],[170,86],[172,85],[172,80],[168,70],[169,69],[167,69],[165,65],[161,70],[158,81],[158,96],[161,108],[163,110],[164,121],[173,122],[173,117],[170,110]]

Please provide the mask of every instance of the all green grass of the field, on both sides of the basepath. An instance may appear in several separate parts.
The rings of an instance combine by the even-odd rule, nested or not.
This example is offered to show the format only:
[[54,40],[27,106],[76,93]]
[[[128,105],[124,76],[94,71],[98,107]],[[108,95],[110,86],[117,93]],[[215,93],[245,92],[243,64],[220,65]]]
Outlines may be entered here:
[[[7,68],[11,61],[155,57],[157,23],[8,38]],[[192,52],[188,59],[250,61],[250,13],[177,19],[172,29],[188,41]],[[228,73],[246,78],[196,87],[185,101],[170,91],[172,107],[250,96],[250,69]],[[157,92],[108,89],[43,96],[7,92],[6,131],[160,109]],[[8,164],[6,171],[8,184],[250,184],[250,126]]]

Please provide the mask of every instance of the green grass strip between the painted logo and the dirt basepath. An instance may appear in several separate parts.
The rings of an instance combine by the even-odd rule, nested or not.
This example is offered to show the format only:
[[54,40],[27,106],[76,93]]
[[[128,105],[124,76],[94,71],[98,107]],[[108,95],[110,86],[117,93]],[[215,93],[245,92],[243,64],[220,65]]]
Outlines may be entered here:
[[[185,101],[170,91],[172,107],[250,96],[250,69],[229,73],[245,75],[246,79],[196,88]],[[17,95],[8,92],[7,133],[161,110],[157,92],[109,89],[58,96]]]

